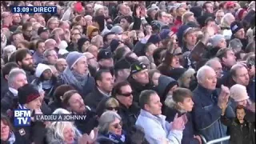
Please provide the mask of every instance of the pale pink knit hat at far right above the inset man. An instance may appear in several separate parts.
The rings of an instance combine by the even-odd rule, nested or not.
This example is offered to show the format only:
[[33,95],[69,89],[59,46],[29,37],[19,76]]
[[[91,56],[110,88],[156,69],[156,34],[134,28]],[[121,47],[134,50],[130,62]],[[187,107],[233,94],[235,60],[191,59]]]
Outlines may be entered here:
[[246,91],[246,86],[235,84],[230,88],[230,97],[234,99],[234,102],[241,102],[249,99]]

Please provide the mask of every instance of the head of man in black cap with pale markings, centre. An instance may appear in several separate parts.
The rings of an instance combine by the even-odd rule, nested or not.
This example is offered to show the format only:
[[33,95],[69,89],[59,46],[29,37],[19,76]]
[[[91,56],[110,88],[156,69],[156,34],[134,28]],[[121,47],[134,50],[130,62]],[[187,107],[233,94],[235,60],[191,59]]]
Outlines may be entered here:
[[150,82],[148,69],[142,62],[135,62],[131,65],[130,69],[130,76],[136,82],[141,83],[142,85],[146,85]]

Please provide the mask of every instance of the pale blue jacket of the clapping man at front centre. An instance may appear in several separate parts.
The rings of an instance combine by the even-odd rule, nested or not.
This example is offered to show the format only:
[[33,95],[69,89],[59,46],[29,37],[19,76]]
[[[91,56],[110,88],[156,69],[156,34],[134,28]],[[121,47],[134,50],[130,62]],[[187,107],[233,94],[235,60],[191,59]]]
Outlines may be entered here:
[[149,143],[162,144],[162,139],[167,139],[172,144],[182,142],[182,131],[171,130],[170,123],[166,122],[166,116],[162,114],[154,116],[146,110],[141,110],[135,125],[142,126]]

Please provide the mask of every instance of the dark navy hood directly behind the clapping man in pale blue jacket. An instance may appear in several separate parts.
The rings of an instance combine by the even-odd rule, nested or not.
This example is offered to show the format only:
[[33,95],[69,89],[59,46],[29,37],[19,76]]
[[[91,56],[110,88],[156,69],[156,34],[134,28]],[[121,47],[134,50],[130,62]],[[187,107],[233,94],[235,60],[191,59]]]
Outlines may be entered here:
[[165,97],[168,91],[175,85],[178,85],[178,82],[175,81],[174,78],[161,75],[158,78],[158,86],[156,86],[156,90],[158,91],[160,98]]

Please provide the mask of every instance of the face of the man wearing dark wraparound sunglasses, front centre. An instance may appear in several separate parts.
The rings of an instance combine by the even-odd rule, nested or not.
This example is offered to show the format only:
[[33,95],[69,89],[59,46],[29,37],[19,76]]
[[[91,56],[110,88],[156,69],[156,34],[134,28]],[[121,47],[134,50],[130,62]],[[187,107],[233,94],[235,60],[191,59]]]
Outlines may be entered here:
[[129,85],[122,86],[120,88],[120,94],[117,95],[118,101],[122,103],[122,105],[129,107],[133,104],[133,90]]

